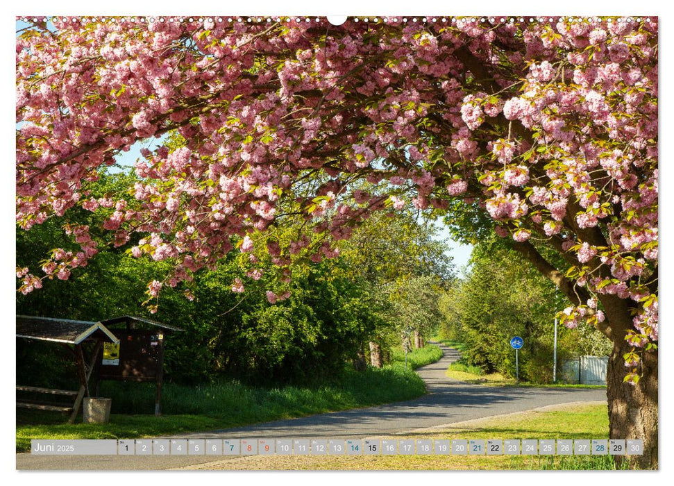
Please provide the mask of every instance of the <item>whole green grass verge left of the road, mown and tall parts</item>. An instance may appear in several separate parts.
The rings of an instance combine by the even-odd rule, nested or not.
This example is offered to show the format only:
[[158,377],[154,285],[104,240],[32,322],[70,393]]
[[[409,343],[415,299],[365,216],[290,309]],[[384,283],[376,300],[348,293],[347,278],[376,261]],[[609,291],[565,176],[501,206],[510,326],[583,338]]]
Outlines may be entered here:
[[[412,366],[394,360],[382,369],[362,373],[349,370],[338,383],[325,386],[262,388],[237,381],[203,386],[166,383],[162,417],[155,417],[155,388],[151,383],[103,382],[101,396],[112,398],[110,424],[65,424],[59,414],[17,410],[17,452],[27,451],[31,439],[133,439],[217,428],[233,428],[264,421],[360,408],[414,399],[426,392],[412,367],[441,356],[437,346],[407,355]],[[403,355],[403,363],[404,363]],[[430,360],[430,361],[428,361]],[[142,414],[137,414],[142,412]]]

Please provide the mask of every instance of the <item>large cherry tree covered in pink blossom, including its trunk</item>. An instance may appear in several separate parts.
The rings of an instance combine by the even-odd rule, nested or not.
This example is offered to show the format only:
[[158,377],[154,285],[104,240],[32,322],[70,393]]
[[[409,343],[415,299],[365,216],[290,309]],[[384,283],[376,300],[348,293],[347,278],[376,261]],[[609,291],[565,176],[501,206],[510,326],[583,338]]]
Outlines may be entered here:
[[[101,212],[112,244],[174,262],[155,297],[236,246],[248,275],[259,251],[289,275],[374,211],[471,208],[573,303],[564,324],[612,340],[611,436],[657,465],[655,17],[45,21],[17,37],[23,230]],[[128,194],[90,197],[165,134],[180,143],[144,150]],[[18,267],[21,292],[94,257],[90,228],[67,232],[79,251]]]

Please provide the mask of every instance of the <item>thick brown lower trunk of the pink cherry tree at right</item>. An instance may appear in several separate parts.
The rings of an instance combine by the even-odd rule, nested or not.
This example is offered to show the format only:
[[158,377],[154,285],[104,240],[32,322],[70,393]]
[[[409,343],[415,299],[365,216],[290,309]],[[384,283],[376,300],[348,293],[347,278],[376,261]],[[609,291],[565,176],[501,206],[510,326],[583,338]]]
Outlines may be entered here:
[[643,455],[617,455],[631,469],[657,469],[657,351],[643,351],[637,385],[623,383],[630,372],[623,355],[630,351],[624,340],[614,344],[606,373],[609,433],[612,439],[643,439]]

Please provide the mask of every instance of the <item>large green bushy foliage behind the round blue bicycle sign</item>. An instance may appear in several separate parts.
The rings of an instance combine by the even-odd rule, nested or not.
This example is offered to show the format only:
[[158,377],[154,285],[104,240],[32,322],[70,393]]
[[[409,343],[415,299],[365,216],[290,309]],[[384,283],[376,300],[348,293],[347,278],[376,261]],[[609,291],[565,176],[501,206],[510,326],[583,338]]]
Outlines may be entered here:
[[[560,258],[555,253],[544,256],[553,261]],[[562,268],[562,262],[556,264]],[[515,377],[516,369],[509,341],[521,336],[519,378],[551,383],[553,323],[557,310],[568,304],[553,283],[512,249],[509,240],[485,237],[473,249],[469,272],[457,279],[441,301],[445,321],[440,335],[466,344],[464,364],[509,378]],[[607,342],[591,326],[559,326],[558,362],[573,351],[604,349]]]

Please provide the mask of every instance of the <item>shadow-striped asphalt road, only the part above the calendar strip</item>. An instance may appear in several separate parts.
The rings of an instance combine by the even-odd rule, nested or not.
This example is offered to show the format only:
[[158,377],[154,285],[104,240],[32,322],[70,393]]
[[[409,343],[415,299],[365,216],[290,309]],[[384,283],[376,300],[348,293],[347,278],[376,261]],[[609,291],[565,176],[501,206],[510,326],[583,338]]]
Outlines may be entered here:
[[418,399],[171,437],[356,438],[392,435],[546,405],[606,399],[604,389],[491,387],[453,380],[445,375],[445,371],[450,363],[460,358],[460,354],[443,344],[432,344],[440,347],[443,356],[416,370],[428,389],[428,394]]

